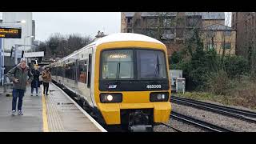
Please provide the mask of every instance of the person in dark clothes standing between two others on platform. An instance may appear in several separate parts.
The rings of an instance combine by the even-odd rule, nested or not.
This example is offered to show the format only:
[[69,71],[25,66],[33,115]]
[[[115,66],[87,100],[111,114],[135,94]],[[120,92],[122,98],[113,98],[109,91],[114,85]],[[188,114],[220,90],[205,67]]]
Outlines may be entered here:
[[40,72],[38,70],[38,66],[34,66],[34,69],[31,70],[31,73],[33,74],[33,77],[34,77],[33,81],[31,82],[31,96],[33,96],[34,88],[38,96],[38,86],[40,86],[39,84]]

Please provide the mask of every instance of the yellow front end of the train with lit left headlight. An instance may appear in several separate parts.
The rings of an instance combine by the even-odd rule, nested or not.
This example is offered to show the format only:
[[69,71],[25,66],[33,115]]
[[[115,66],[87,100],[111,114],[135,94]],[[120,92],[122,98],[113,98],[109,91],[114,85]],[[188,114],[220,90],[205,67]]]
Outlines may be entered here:
[[[122,39],[123,37],[123,39]],[[166,46],[141,34],[124,34],[98,44],[94,98],[106,125],[152,130],[170,118]]]

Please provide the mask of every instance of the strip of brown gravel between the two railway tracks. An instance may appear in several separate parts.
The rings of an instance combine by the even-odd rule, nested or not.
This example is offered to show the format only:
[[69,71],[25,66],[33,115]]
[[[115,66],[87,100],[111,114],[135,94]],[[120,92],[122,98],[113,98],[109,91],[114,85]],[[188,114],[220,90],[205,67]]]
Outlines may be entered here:
[[[216,114],[214,112],[206,111],[206,110],[199,110],[197,108],[191,106],[183,106],[172,103],[172,110],[188,115],[193,118],[198,118],[205,122],[210,122],[217,126],[222,126],[230,130],[243,132],[256,132],[256,124],[246,122],[237,118],[231,118],[222,114]],[[177,124],[177,123],[176,123]],[[194,131],[194,130],[190,130]]]

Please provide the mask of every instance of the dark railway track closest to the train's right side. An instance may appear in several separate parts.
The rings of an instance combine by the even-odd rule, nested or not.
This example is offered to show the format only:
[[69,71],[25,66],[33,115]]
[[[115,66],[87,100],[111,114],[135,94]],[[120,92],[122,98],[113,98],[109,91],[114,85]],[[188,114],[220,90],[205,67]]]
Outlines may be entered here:
[[183,114],[179,114],[179,113],[177,113],[173,110],[171,111],[170,118],[175,118],[178,121],[183,121],[183,122],[186,122],[186,123],[192,124],[194,126],[198,126],[198,127],[201,127],[205,130],[210,130],[210,131],[213,131],[213,132],[233,132],[232,130],[226,129],[224,127],[216,126],[216,125],[211,124],[209,122],[204,122],[204,121],[201,121],[201,120],[196,119],[196,118],[192,118],[192,117],[189,117],[189,116],[186,116],[186,115],[183,115]]

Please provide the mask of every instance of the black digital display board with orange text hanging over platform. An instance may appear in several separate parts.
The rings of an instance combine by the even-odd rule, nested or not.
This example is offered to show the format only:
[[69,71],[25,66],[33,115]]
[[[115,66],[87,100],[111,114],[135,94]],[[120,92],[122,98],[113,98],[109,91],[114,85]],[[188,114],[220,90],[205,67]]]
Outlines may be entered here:
[[22,38],[22,29],[0,27],[0,38]]

